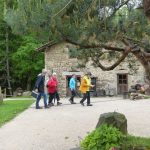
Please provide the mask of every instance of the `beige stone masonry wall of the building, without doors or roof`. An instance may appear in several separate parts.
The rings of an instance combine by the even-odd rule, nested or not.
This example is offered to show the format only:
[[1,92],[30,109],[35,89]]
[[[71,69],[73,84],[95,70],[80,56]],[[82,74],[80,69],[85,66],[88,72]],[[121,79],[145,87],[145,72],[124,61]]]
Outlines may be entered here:
[[[117,94],[117,74],[128,74],[128,88],[137,82],[143,82],[144,69],[139,65],[139,69],[136,74],[131,74],[128,69],[128,64],[123,62],[112,71],[102,71],[100,68],[94,68],[91,62],[86,64],[86,68],[79,69],[78,60],[76,58],[70,58],[68,55],[68,47],[71,46],[68,43],[60,43],[51,46],[50,49],[45,51],[45,67],[50,72],[56,72],[59,81],[59,93],[61,96],[66,96],[66,76],[65,72],[79,71],[81,75],[84,72],[91,71],[94,77],[97,77],[97,91],[112,89],[114,94]],[[109,62],[105,62],[106,65]]]

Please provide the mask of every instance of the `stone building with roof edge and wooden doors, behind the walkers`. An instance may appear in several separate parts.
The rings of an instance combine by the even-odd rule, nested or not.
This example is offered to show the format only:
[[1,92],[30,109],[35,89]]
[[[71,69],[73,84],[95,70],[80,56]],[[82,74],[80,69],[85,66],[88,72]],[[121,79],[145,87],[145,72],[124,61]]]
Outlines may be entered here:
[[80,79],[86,71],[93,75],[92,82],[96,85],[92,89],[94,96],[120,95],[128,91],[131,85],[144,82],[144,68],[138,64],[136,73],[131,73],[126,62],[122,62],[112,71],[102,71],[95,68],[91,62],[87,62],[85,68],[78,67],[78,60],[69,55],[69,43],[50,42],[37,50],[45,53],[45,68],[50,72],[56,72],[59,81],[59,93],[65,97],[69,95],[69,80],[72,74],[77,76],[77,88]]

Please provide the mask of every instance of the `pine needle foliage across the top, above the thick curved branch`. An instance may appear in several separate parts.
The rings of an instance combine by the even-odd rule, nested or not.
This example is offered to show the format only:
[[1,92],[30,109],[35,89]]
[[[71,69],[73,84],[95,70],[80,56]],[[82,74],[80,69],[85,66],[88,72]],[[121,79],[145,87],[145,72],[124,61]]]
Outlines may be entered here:
[[41,41],[67,37],[86,45],[125,36],[141,40],[150,36],[150,26],[136,7],[135,0],[20,0],[6,20],[15,33],[32,33]]

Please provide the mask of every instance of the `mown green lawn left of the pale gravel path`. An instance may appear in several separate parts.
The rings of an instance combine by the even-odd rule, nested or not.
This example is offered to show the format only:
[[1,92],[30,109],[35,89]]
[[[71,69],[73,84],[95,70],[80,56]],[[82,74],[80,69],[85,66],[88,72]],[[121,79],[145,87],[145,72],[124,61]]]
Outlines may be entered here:
[[10,100],[0,105],[0,127],[27,109],[34,100]]

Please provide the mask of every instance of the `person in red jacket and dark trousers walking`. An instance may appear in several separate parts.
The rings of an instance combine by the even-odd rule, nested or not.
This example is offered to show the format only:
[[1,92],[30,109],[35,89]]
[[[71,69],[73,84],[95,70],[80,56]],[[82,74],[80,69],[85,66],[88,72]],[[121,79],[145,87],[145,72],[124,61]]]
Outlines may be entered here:
[[57,81],[56,73],[53,73],[47,83],[48,94],[49,94],[49,102],[48,102],[49,106],[54,106],[54,103],[52,101],[55,98],[57,99],[57,105],[62,104],[59,102],[60,98],[57,92],[57,86],[58,86],[58,81]]

